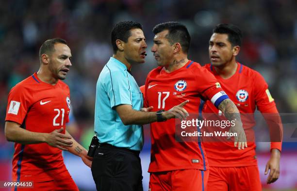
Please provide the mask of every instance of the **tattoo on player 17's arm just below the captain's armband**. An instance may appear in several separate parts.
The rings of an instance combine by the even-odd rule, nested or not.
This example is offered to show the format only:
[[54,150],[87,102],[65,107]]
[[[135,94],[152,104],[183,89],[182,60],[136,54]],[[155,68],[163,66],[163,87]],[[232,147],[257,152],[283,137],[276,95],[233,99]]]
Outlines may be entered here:
[[218,109],[222,111],[228,120],[240,120],[240,113],[235,104],[230,99],[225,99],[220,103]]

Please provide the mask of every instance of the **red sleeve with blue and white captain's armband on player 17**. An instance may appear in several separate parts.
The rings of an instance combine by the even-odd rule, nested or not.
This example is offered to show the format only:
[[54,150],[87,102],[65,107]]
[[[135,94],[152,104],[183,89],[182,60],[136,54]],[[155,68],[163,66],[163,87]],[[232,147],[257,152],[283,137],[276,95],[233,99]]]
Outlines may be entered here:
[[229,97],[226,95],[219,82],[211,72],[209,72],[205,67],[201,67],[199,69],[200,70],[195,75],[196,81],[199,82],[197,83],[198,92],[205,100],[211,100],[214,106],[218,108],[219,104]]

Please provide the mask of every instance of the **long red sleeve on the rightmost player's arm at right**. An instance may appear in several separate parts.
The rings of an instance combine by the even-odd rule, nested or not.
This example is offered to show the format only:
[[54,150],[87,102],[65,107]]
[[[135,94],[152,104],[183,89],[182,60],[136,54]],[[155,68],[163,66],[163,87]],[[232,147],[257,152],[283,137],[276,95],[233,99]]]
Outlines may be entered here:
[[260,73],[255,73],[255,101],[257,109],[261,111],[270,132],[270,150],[276,148],[281,151],[283,127],[279,111],[268,90],[268,84]]

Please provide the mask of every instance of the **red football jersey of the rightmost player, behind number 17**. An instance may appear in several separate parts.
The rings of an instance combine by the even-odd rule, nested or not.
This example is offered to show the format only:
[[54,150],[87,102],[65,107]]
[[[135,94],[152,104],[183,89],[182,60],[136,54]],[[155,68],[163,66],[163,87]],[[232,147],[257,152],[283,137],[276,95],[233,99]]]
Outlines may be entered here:
[[[241,120],[247,136],[247,148],[244,150],[238,150],[237,147],[234,147],[233,142],[208,142],[203,140],[210,166],[236,167],[257,165],[255,136],[252,129],[255,126],[253,113],[256,106],[262,113],[278,112],[274,99],[268,91],[267,83],[260,73],[240,63],[237,63],[236,73],[229,79],[223,79],[216,74],[214,66],[211,64],[206,64],[203,67],[214,74],[223,90],[237,106],[240,113],[242,113]],[[205,115],[207,113],[216,113],[217,115],[213,116],[218,119],[219,112],[211,102],[206,101],[203,107]],[[224,130],[222,129],[222,131]],[[272,148],[281,150],[281,143],[272,144]]]

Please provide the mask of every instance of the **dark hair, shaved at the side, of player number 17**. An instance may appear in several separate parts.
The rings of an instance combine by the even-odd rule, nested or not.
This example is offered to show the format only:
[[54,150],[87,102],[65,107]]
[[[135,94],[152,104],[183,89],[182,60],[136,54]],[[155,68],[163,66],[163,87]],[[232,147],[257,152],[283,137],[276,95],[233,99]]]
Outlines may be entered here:
[[169,43],[173,45],[174,43],[180,43],[182,51],[188,53],[191,45],[191,37],[186,28],[179,22],[165,22],[156,25],[153,29],[154,34],[168,30],[166,38]]

